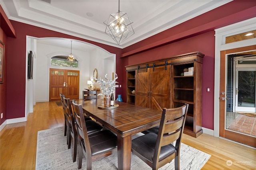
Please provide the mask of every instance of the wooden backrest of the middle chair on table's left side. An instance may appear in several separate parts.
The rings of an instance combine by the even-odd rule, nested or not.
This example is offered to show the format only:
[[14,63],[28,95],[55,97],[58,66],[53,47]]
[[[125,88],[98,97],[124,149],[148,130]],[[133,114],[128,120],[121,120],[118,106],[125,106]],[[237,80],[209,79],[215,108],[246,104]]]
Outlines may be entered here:
[[67,121],[68,123],[71,124],[72,126],[72,132],[74,133],[74,135],[76,135],[76,124],[75,124],[75,119],[74,119],[74,115],[73,115],[73,110],[72,110],[72,106],[71,106],[71,101],[70,98],[63,98],[63,103],[64,103],[64,108],[66,111],[66,117],[67,117]]

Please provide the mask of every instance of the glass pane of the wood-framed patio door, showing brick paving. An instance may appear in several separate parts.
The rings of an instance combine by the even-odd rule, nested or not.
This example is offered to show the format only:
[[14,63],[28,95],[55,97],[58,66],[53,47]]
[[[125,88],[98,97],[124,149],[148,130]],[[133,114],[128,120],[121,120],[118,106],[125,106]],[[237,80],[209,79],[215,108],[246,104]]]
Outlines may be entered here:
[[237,55],[228,55],[225,129],[256,136],[256,65],[238,62]]

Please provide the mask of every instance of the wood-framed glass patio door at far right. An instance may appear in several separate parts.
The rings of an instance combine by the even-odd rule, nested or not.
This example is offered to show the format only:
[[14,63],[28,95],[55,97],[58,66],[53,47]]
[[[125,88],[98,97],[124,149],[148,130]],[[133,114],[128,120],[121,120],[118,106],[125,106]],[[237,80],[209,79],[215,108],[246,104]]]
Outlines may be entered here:
[[252,45],[220,51],[219,135],[252,147],[256,147],[256,58],[251,57],[255,49]]

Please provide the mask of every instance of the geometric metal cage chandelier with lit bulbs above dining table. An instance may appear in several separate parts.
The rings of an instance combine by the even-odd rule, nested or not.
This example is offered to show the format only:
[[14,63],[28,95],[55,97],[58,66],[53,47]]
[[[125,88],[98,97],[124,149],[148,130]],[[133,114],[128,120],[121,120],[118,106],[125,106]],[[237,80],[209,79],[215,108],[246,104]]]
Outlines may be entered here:
[[104,21],[106,25],[105,33],[112,37],[118,44],[134,34],[132,28],[133,22],[129,20],[125,12],[119,10],[119,7],[120,0],[118,0],[118,12],[110,14],[108,20]]

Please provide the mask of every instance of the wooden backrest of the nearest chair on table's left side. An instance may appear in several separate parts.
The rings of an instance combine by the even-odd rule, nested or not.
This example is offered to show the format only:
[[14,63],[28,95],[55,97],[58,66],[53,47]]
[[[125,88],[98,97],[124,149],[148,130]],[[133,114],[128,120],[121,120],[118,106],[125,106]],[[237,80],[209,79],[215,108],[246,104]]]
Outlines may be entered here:
[[74,117],[76,119],[76,129],[78,132],[78,139],[80,141],[84,141],[86,154],[91,155],[92,151],[90,148],[89,137],[87,133],[86,122],[84,119],[84,112],[83,112],[82,105],[76,104],[74,101],[72,102],[72,105],[74,109]]

